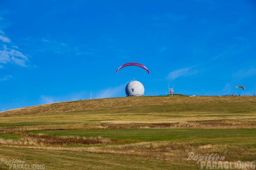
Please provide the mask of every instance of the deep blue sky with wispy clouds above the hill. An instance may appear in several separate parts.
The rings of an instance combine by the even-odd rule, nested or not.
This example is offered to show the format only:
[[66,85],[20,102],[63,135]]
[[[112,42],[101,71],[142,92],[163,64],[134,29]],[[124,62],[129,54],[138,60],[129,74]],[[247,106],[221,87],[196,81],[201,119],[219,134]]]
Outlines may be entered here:
[[[256,2],[0,1],[0,110],[123,97],[256,93]],[[124,63],[130,66],[115,71]],[[237,85],[245,87],[234,89]]]

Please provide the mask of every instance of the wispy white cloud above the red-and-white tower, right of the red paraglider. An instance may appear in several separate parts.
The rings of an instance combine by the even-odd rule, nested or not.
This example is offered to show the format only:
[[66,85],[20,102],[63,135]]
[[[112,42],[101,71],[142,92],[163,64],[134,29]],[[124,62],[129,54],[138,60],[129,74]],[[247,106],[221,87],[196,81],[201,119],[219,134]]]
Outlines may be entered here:
[[185,77],[185,76],[195,75],[198,71],[192,70],[192,68],[194,68],[194,67],[195,66],[172,71],[168,74],[167,79],[174,80],[178,77]]

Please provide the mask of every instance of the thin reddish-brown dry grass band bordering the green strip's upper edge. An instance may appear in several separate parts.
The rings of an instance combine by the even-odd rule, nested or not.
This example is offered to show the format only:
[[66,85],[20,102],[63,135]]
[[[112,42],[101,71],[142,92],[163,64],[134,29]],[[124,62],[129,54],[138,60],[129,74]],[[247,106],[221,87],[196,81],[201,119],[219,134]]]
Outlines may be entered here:
[[143,129],[143,128],[204,128],[204,129],[255,129],[256,120],[207,120],[159,123],[102,122],[100,126],[22,126],[0,127],[0,133],[20,134],[32,130],[75,130],[75,129]]

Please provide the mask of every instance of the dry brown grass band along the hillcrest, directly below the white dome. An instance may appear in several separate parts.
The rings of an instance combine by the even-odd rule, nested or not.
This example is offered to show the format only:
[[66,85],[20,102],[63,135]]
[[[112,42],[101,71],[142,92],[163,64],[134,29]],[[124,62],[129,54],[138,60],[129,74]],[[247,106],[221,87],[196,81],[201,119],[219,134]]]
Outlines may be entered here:
[[92,99],[52,103],[38,105],[20,109],[13,109],[0,112],[0,117],[31,115],[39,113],[54,113],[67,111],[81,111],[88,109],[111,109],[136,106],[150,105],[175,105],[175,104],[219,104],[219,103],[256,103],[256,97],[253,96],[235,96],[235,97],[218,97],[218,96],[200,96],[194,97],[169,97],[169,96],[145,96],[145,97],[123,97],[108,99]]

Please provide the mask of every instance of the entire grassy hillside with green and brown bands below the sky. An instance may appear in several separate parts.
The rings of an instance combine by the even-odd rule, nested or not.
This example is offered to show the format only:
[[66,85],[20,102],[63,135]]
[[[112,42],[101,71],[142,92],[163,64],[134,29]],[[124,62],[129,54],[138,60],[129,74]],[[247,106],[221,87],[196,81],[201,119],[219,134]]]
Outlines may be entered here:
[[0,120],[0,159],[45,169],[200,169],[189,152],[256,160],[253,96],[80,100],[0,112]]

